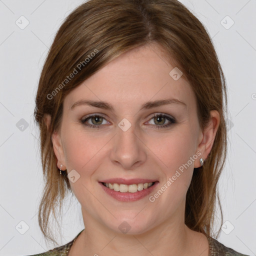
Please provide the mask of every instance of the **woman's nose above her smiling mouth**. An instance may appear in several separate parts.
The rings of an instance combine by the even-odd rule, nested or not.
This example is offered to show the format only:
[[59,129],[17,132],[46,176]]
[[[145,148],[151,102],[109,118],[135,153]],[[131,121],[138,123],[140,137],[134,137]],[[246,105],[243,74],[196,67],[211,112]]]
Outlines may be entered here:
[[126,131],[116,126],[116,131],[110,153],[111,161],[123,169],[132,169],[145,162],[146,146],[141,133],[135,130],[135,125],[132,124]]

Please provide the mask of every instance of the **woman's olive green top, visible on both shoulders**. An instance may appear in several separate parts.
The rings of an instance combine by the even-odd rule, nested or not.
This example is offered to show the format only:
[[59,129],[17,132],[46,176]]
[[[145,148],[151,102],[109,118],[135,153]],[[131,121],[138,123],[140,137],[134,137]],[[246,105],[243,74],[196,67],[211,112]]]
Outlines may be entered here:
[[[84,229],[83,229],[84,230]],[[81,230],[70,242],[56,247],[54,249],[48,250],[46,252],[42,252],[39,254],[33,254],[29,256],[68,256],[68,252],[74,243],[75,239],[78,235],[83,231]],[[209,255],[208,256],[249,256],[245,254],[241,254],[231,248],[226,247],[216,239],[208,236],[207,237],[209,242]]]

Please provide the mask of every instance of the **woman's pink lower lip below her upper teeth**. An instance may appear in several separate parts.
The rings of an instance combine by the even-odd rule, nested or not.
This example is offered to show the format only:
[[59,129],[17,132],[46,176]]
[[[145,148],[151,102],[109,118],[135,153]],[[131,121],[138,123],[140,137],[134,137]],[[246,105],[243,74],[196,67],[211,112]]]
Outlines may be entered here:
[[135,193],[130,193],[130,192],[114,191],[113,189],[110,189],[110,188],[104,186],[101,182],[99,182],[99,184],[101,185],[101,187],[104,189],[104,191],[107,194],[109,194],[110,196],[112,196],[116,200],[123,201],[123,202],[137,201],[137,200],[145,197],[146,195],[148,195],[152,192],[152,190],[156,187],[156,185],[158,183],[159,183],[158,181],[155,181],[153,185],[151,185],[150,187],[148,187],[146,189],[142,189],[142,190],[137,191]]

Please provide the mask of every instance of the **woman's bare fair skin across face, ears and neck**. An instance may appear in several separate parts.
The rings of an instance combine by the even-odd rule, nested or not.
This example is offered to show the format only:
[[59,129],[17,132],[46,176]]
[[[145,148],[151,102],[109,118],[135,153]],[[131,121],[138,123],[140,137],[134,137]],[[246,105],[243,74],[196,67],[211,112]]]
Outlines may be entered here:
[[[85,226],[69,256],[208,255],[206,236],[184,224],[184,207],[193,168],[211,150],[219,114],[211,111],[209,125],[200,129],[194,93],[182,76],[170,77],[174,66],[164,59],[158,44],[140,46],[110,61],[65,97],[60,129],[51,138],[58,168],[62,164],[62,170],[75,169],[80,175],[70,184]],[[165,104],[139,110],[149,100],[164,98],[179,99],[186,106]],[[89,105],[70,109],[80,99],[106,101],[113,110]],[[99,123],[99,128],[81,123],[92,113],[105,118],[87,120]],[[176,123],[157,121],[154,113],[170,115]],[[125,132],[117,125],[122,118],[131,124]],[[157,129],[163,123],[171,124]],[[156,179],[159,183],[152,195],[197,151],[201,155],[154,202],[148,196],[117,201],[98,183],[114,177]],[[123,221],[131,227],[127,233],[118,228]]]

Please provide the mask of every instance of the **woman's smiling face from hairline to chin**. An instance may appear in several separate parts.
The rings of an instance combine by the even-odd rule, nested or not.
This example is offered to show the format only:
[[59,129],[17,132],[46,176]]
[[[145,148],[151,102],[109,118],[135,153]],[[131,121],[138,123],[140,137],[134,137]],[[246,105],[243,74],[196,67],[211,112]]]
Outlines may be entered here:
[[[140,46],[65,97],[52,142],[85,225],[91,220],[119,233],[128,226],[129,233],[138,234],[184,222],[193,168],[206,158],[215,131],[200,130],[194,93],[182,75],[169,74],[174,67],[159,45]],[[123,184],[115,190],[130,192],[101,182]]]

